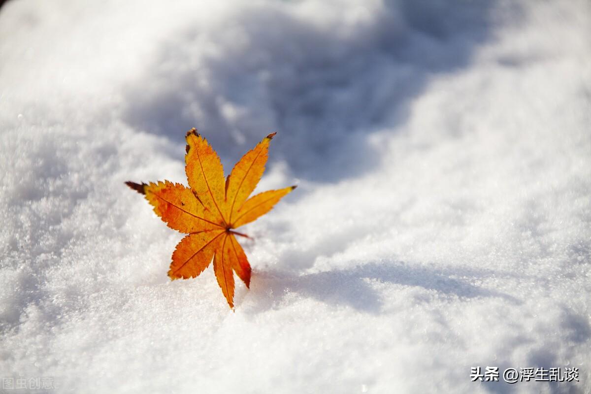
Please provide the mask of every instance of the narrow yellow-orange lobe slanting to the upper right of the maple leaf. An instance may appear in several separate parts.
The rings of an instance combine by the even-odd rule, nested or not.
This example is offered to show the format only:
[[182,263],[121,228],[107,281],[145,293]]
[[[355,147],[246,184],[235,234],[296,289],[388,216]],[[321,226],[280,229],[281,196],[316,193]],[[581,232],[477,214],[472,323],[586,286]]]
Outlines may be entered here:
[[232,168],[232,173],[226,181],[226,217],[232,223],[232,218],[242,207],[246,198],[255,190],[265,171],[265,164],[269,157],[269,142],[275,133],[269,134],[259,142],[254,149],[246,154]]

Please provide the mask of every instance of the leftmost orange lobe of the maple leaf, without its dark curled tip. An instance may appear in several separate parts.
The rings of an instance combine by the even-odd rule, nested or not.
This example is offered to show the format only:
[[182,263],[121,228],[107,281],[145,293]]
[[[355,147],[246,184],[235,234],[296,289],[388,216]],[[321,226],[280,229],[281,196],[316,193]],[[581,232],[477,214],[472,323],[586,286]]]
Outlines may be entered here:
[[171,229],[181,233],[219,229],[191,189],[169,181],[143,185],[146,199],[154,206],[154,213]]

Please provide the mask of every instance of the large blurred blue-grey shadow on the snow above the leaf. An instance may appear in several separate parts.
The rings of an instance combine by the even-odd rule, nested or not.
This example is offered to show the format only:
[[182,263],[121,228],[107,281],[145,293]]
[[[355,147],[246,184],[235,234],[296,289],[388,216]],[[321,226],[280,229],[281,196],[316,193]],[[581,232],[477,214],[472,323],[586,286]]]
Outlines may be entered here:
[[125,87],[124,119],[179,143],[196,127],[225,165],[278,131],[271,160],[294,177],[355,177],[379,162],[372,132],[400,128],[434,74],[469,64],[491,35],[491,4],[387,1],[349,25],[339,10],[298,17],[290,2],[237,9],[163,45]]

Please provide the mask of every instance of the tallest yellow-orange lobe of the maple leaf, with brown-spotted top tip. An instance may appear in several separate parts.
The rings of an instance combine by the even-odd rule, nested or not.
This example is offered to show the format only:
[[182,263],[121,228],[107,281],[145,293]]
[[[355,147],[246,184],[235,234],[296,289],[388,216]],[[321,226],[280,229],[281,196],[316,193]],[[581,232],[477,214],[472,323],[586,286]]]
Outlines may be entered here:
[[226,227],[228,222],[223,214],[225,179],[222,162],[216,151],[195,129],[187,132],[186,140],[185,170],[189,186],[212,217],[216,217],[215,222]]

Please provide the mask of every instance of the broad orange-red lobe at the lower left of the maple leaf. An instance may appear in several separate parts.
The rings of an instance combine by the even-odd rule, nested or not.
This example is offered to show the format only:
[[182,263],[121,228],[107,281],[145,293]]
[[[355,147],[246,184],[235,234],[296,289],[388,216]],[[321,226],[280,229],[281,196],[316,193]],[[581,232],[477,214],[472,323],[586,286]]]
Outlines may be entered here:
[[194,278],[212,262],[213,253],[219,247],[225,230],[207,231],[187,235],[173,252],[168,276],[171,279]]

